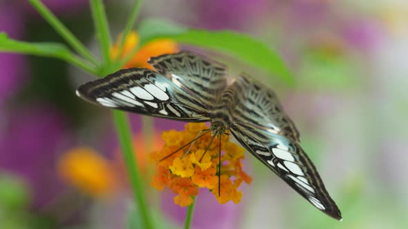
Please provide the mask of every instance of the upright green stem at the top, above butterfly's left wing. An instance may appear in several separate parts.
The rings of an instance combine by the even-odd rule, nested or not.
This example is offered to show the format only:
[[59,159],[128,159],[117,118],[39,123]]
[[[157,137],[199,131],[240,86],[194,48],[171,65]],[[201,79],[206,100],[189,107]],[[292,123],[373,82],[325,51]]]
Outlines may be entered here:
[[90,0],[93,23],[100,44],[100,50],[104,60],[104,66],[109,66],[111,63],[111,35],[109,34],[108,20],[104,10],[102,0]]

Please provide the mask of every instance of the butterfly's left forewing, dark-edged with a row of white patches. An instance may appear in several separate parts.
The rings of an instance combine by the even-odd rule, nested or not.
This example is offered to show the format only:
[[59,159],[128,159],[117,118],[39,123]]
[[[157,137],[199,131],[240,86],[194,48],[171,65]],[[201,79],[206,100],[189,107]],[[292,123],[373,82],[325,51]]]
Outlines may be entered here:
[[77,89],[82,99],[101,106],[179,121],[210,121],[203,102],[158,72],[119,70]]

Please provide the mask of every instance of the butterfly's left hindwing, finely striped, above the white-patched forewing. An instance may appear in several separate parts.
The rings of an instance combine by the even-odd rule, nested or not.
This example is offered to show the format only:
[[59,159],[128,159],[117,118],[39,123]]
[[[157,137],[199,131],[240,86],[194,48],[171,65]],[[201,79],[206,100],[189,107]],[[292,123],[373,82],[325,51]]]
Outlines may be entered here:
[[227,87],[226,67],[192,52],[165,54],[149,59],[151,66],[211,110]]

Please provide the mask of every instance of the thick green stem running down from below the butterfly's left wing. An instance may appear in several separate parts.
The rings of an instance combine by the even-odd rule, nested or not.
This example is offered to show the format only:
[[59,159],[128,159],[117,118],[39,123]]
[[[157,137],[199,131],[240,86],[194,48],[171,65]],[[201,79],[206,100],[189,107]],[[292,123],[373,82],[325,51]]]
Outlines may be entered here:
[[126,163],[127,174],[129,175],[129,182],[133,190],[133,196],[136,200],[136,206],[139,208],[138,212],[143,219],[143,228],[152,228],[149,217],[149,210],[147,209],[146,198],[143,190],[142,177],[140,177],[138,162],[133,154],[133,144],[131,141],[131,131],[129,128],[129,120],[124,112],[113,110],[113,120],[115,121],[115,128],[118,132],[120,146],[122,147],[122,154],[124,162]]

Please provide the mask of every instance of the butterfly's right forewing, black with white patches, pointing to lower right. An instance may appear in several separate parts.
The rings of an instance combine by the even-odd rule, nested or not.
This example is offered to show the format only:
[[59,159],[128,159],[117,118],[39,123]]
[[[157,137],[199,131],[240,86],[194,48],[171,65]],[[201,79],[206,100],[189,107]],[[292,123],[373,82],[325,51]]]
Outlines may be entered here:
[[315,166],[298,143],[250,124],[237,124],[230,130],[248,152],[302,197],[327,215],[342,219],[340,210],[324,188]]

